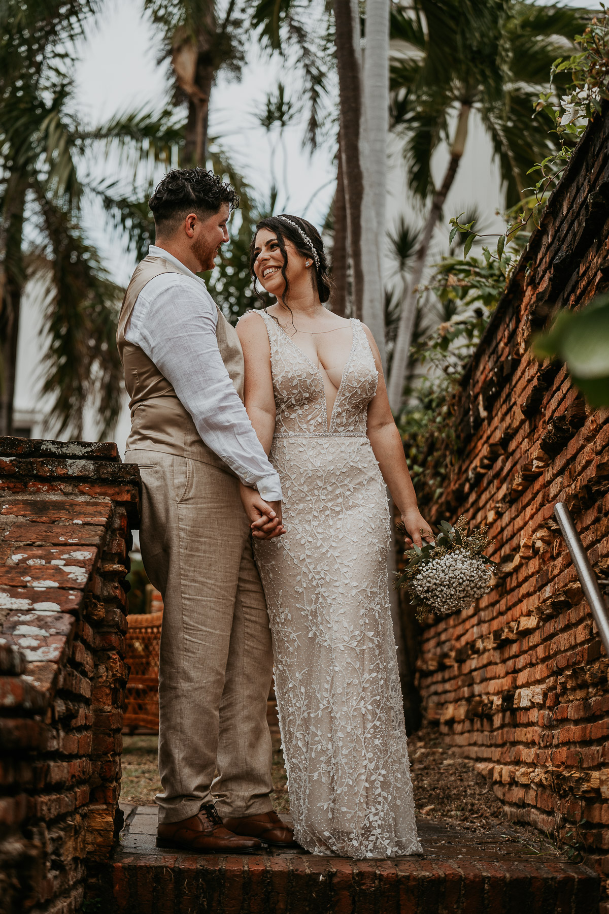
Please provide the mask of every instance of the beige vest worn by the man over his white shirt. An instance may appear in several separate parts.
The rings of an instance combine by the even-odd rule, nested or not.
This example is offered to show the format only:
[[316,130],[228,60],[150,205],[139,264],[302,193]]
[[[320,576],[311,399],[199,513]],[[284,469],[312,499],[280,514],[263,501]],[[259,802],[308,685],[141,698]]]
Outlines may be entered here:
[[[226,463],[201,440],[190,413],[177,398],[166,377],[146,356],[139,345],[125,338],[127,326],[138,295],[147,282],[162,273],[179,273],[168,260],[145,257],[131,276],[122,300],[116,341],[122,367],[125,370],[125,387],[130,396],[131,433],[127,451],[163,451],[179,457],[211,463],[232,473]],[[217,308],[217,305],[216,305]],[[243,351],[231,326],[219,308],[215,335],[220,355],[233,382],[236,392],[243,399]]]

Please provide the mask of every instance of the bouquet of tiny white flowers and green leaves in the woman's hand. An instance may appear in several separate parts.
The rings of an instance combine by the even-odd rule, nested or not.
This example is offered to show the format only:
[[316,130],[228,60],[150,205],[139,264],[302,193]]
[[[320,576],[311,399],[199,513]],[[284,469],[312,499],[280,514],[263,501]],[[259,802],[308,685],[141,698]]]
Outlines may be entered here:
[[435,544],[406,549],[404,556],[410,560],[395,582],[408,591],[419,622],[429,612],[449,616],[469,609],[490,590],[490,566],[496,564],[482,554],[488,547],[488,527],[470,531],[465,515],[455,526],[445,520],[439,526]]

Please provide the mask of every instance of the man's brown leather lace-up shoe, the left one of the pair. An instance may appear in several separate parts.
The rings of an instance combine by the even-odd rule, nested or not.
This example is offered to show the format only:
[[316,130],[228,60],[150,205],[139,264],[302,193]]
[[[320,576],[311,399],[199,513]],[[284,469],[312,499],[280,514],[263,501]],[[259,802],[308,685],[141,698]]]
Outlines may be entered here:
[[213,803],[204,803],[190,819],[160,824],[156,846],[177,847],[197,854],[254,854],[262,849],[255,837],[241,837],[229,832],[215,812]]

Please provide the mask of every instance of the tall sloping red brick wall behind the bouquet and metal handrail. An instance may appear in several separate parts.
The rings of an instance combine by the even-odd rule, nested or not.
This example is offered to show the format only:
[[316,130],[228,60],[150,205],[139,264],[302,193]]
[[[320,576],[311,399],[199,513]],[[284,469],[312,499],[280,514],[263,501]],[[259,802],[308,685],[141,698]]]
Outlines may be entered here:
[[[565,501],[609,571],[609,410],[592,411],[530,334],[609,285],[609,116],[584,134],[530,239],[457,399],[462,455],[432,520],[488,524],[501,562],[472,611],[425,625],[424,713],[476,760],[510,819],[609,876],[608,660],[552,510]],[[606,912],[609,905],[602,907]]]

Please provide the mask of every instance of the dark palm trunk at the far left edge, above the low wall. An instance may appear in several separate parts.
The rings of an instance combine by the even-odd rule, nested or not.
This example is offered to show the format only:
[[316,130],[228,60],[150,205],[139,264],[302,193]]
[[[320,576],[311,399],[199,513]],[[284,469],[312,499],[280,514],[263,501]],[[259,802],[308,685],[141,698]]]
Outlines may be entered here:
[[0,271],[0,435],[13,434],[13,400],[21,293],[26,282],[23,252],[26,184],[20,175],[9,177],[0,245],[4,253]]

